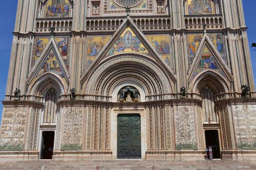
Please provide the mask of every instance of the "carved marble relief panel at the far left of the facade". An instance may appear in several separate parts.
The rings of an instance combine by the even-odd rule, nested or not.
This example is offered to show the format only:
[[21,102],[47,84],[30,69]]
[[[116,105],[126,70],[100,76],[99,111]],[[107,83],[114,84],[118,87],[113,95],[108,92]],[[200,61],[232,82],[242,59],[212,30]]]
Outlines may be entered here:
[[0,133],[0,151],[23,150],[26,108],[5,108]]

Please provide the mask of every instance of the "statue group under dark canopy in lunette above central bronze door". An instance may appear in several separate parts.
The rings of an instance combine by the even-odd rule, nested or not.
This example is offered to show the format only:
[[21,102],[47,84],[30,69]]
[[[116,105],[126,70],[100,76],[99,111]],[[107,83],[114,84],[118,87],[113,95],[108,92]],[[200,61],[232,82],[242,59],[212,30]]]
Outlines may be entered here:
[[138,102],[139,90],[132,86],[126,86],[119,90],[119,102]]

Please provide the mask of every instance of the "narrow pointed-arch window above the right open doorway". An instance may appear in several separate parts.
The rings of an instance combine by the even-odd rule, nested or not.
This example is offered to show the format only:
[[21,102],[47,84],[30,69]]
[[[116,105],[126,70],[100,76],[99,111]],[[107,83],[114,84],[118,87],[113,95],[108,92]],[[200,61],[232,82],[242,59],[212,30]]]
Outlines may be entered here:
[[203,118],[204,122],[217,122],[217,114],[215,107],[215,94],[208,86],[205,86],[201,91],[203,100]]

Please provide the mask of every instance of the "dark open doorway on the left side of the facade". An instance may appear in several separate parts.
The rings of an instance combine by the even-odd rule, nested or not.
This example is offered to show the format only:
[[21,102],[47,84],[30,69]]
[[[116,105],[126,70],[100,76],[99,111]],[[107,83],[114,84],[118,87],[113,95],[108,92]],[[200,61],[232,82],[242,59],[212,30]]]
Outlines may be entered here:
[[54,131],[42,132],[40,159],[52,159],[54,148]]

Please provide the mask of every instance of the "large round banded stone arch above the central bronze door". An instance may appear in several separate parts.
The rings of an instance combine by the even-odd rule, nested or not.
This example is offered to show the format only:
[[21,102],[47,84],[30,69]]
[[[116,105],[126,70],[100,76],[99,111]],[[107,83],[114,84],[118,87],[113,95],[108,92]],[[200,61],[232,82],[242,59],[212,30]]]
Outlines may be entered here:
[[167,72],[156,61],[137,54],[117,54],[106,58],[88,77],[83,89],[88,96],[112,96],[114,87],[121,82],[132,82],[130,85],[141,89],[147,100],[165,99],[164,94],[174,91],[174,81]]

